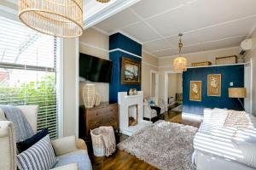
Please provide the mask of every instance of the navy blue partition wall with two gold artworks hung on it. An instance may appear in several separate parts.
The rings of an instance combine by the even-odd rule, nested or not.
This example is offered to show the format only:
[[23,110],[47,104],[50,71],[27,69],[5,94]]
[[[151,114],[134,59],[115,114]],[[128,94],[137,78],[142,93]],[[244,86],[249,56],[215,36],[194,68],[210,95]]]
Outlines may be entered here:
[[[208,74],[221,74],[221,97],[207,96]],[[202,81],[201,102],[189,100],[190,81]],[[229,98],[230,82],[234,82],[233,88],[244,87],[244,65],[191,68],[183,72],[183,112],[203,115],[204,108],[215,107],[241,111],[239,101]]]

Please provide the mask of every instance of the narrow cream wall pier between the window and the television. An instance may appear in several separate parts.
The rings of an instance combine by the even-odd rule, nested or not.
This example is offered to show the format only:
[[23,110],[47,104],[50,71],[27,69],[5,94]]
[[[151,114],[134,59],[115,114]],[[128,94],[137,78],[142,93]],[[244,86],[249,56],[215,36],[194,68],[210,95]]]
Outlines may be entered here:
[[[78,40],[77,40],[78,41]],[[63,135],[77,135],[79,105],[77,96],[76,38],[63,39]]]

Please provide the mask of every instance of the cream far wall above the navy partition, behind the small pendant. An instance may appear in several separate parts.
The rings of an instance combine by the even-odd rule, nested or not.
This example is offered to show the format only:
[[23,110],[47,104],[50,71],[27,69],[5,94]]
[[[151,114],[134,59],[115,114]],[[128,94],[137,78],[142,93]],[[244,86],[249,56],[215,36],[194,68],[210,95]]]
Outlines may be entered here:
[[[194,62],[202,62],[202,61],[211,61],[212,64],[215,63],[216,57],[223,57],[236,54],[239,56],[240,48],[233,47],[233,48],[222,48],[210,51],[204,51],[199,53],[193,54],[183,54],[188,59],[188,65]],[[173,71],[172,70],[172,63],[173,59],[175,59],[177,55],[171,57],[160,58],[158,60],[158,67],[160,73],[160,98],[165,98],[165,72],[166,71]]]

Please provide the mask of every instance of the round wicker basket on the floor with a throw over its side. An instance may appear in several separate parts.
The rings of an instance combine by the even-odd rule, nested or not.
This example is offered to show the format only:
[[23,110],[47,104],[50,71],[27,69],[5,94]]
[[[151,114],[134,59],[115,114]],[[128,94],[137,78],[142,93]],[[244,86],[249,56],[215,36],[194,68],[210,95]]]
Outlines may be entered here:
[[95,156],[105,156],[105,146],[102,140],[102,134],[99,128],[90,130],[93,154]]

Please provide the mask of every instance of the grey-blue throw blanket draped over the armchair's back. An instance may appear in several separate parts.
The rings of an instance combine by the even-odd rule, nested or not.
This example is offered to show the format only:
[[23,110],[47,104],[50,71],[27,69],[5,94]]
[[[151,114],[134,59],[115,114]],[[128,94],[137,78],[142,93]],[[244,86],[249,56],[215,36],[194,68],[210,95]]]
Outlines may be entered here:
[[13,105],[0,105],[6,119],[14,122],[16,142],[23,141],[34,135],[31,125],[18,107]]

